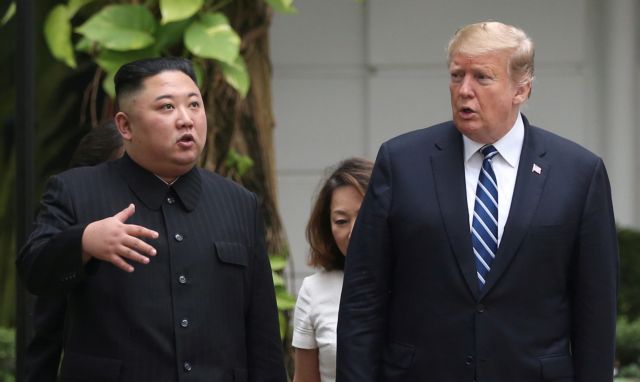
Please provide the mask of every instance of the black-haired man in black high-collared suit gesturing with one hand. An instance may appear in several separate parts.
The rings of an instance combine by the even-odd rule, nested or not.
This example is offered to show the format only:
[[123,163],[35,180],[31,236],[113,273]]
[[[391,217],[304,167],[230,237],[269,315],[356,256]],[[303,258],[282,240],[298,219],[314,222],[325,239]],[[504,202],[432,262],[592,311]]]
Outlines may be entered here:
[[69,295],[61,379],[285,381],[256,196],[195,167],[191,64],[129,63],[115,84],[126,154],[52,177],[17,262],[33,293]]

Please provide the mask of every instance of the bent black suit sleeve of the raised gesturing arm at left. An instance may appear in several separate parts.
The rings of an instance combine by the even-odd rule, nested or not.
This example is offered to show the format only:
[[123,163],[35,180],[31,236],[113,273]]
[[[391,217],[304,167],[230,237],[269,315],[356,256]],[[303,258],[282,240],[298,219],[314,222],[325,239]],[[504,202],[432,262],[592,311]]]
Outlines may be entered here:
[[49,179],[35,228],[16,260],[18,274],[36,295],[61,294],[84,277],[82,234],[64,181]]

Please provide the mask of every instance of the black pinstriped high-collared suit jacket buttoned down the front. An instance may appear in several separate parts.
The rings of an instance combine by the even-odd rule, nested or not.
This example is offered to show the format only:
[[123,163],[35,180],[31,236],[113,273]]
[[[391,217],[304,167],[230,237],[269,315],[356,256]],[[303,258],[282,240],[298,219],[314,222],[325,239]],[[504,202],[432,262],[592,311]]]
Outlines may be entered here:
[[[82,265],[90,222],[136,206],[147,265]],[[50,179],[18,260],[34,293],[69,294],[62,380],[284,381],[257,200],[194,168],[171,186],[124,158]]]

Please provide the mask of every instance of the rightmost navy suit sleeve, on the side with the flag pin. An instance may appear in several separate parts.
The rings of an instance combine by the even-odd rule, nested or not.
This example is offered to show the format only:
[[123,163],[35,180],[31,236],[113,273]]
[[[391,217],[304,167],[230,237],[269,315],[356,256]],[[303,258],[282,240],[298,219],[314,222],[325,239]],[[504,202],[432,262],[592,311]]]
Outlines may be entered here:
[[609,179],[595,166],[572,272],[572,353],[576,381],[613,380],[618,240]]

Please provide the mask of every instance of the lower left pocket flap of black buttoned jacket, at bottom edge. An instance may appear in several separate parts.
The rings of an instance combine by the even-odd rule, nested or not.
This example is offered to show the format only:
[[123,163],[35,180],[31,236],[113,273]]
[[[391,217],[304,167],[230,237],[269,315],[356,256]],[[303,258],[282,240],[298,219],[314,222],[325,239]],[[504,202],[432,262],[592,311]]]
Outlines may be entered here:
[[122,361],[88,354],[65,352],[62,361],[63,381],[116,382]]

